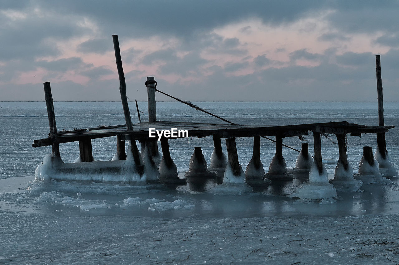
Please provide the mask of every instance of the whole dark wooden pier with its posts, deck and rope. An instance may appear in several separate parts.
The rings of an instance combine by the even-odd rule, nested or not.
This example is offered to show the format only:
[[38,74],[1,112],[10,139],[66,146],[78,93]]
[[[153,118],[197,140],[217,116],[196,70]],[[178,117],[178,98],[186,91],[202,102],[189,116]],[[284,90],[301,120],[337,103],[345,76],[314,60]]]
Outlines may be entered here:
[[[260,137],[275,136],[276,140],[276,157],[277,160],[284,164],[285,161],[282,155],[282,138],[303,136],[308,133],[313,134],[314,140],[314,164],[316,164],[319,172],[323,170],[322,164],[322,149],[320,137],[322,134],[335,134],[338,140],[338,149],[340,154],[340,161],[344,164],[344,167],[348,167],[348,159],[346,157],[347,143],[346,136],[360,136],[361,134],[376,134],[377,135],[377,148],[381,153],[381,156],[385,158],[387,156],[387,150],[385,145],[385,133],[389,129],[393,129],[394,126],[385,126],[383,123],[383,103],[382,103],[382,85],[381,85],[381,66],[379,65],[379,55],[376,56],[376,71],[377,71],[377,87],[378,87],[378,103],[379,103],[379,126],[367,126],[355,123],[348,123],[346,121],[327,122],[327,123],[309,123],[309,124],[294,124],[284,126],[268,126],[265,125],[237,125],[233,124],[225,119],[222,119],[212,113],[206,112],[210,115],[218,117],[223,121],[227,121],[229,124],[217,124],[217,123],[192,123],[192,122],[176,122],[176,121],[158,121],[156,118],[156,81],[154,77],[148,77],[146,82],[148,92],[148,120],[138,124],[132,124],[130,111],[128,108],[128,102],[126,99],[126,83],[124,81],[124,75],[122,70],[122,61],[120,59],[119,42],[116,35],[113,36],[115,55],[117,61],[117,68],[120,79],[120,95],[122,99],[122,105],[124,109],[124,115],[126,124],[115,125],[115,126],[100,126],[95,128],[86,128],[71,131],[57,131],[55,122],[55,112],[53,107],[53,99],[51,96],[50,83],[44,83],[45,101],[47,105],[47,114],[49,119],[49,136],[34,140],[33,147],[40,146],[52,146],[53,155],[60,157],[59,144],[67,142],[79,142],[79,156],[81,162],[93,162],[93,154],[91,150],[91,140],[96,138],[104,137],[115,137],[117,142],[117,154],[119,160],[126,160],[125,154],[125,141],[131,142],[130,151],[134,157],[134,164],[138,174],[142,175],[145,171],[145,163],[143,165],[143,158],[140,156],[138,148],[136,146],[136,140],[142,143],[146,150],[149,150],[148,157],[158,155],[158,144],[157,138],[150,138],[150,128],[156,128],[156,130],[171,130],[177,128],[178,130],[188,131],[189,137],[203,138],[206,136],[213,136],[213,142],[215,146],[215,152],[217,157],[221,158],[223,153],[221,151],[221,138],[226,139],[228,159],[227,164],[231,167],[231,170],[235,176],[239,176],[242,172],[242,168],[238,162],[237,147],[235,145],[235,138],[238,137],[254,137],[254,152],[253,161],[255,166],[261,163],[260,161]],[[160,93],[163,93],[160,91]],[[165,94],[165,93],[163,93]],[[166,94],[167,95],[167,94]],[[175,97],[172,97],[177,99]],[[177,99],[187,105],[180,99]],[[194,106],[196,109],[200,109],[198,106]],[[201,110],[201,109],[200,109]],[[205,111],[204,111],[205,112]],[[173,179],[177,178],[176,165],[170,156],[168,139],[179,138],[178,137],[162,137],[160,139],[163,158],[160,162],[160,168],[168,168],[170,171],[167,173],[160,173],[159,178]],[[269,139],[269,138],[268,138]],[[269,139],[270,140],[270,139]],[[144,149],[142,149],[144,150]],[[202,153],[201,153],[202,154]],[[306,156],[307,156],[307,145],[306,145]],[[189,159],[189,158],[188,158]],[[371,158],[369,158],[370,160]],[[148,159],[147,159],[148,160]],[[154,168],[154,162],[150,162],[151,168]],[[223,164],[223,163],[222,163]],[[156,169],[156,167],[155,167]],[[251,178],[251,176],[247,176]]]

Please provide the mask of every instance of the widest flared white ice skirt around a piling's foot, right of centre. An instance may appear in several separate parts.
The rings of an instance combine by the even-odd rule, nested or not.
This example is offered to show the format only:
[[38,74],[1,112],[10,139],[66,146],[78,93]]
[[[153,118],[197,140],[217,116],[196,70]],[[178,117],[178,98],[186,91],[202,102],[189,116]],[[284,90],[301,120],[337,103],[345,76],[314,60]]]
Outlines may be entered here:
[[334,198],[337,196],[336,189],[328,182],[328,173],[323,165],[322,173],[317,169],[316,161],[313,162],[309,171],[309,182],[302,184],[288,197],[298,197],[301,199],[321,200]]

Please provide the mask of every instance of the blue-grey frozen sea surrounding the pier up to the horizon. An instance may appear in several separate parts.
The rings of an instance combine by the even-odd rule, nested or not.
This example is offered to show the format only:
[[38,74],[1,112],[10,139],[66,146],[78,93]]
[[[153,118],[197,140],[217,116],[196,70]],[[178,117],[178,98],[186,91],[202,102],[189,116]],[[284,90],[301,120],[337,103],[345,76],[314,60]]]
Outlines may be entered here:
[[[148,117],[140,102],[141,117]],[[377,125],[377,103],[195,103],[239,124],[290,125],[348,121]],[[57,129],[124,124],[119,102],[55,102]],[[384,103],[385,124],[398,126],[399,103]],[[137,122],[134,103],[132,121]],[[181,103],[158,102],[158,120],[219,123]],[[363,185],[340,193],[333,204],[287,197],[306,178],[272,182],[262,190],[215,188],[216,181],[185,186],[35,182],[34,172],[51,147],[32,148],[49,132],[44,102],[0,102],[0,264],[398,264],[399,187]],[[305,137],[313,152],[311,135]],[[386,134],[399,168],[399,128]],[[213,141],[170,140],[179,174],[189,168],[195,146],[209,164]],[[252,139],[237,138],[241,166],[252,156]],[[338,146],[322,138],[323,159],[334,178]],[[284,144],[300,149],[298,137]],[[93,140],[95,160],[111,160],[116,137]],[[222,142],[222,146],[223,142]],[[358,172],[363,146],[375,135],[348,136],[348,160]],[[61,144],[64,162],[79,154],[77,142]],[[265,171],[275,144],[261,140]],[[297,152],[283,148],[287,168]]]

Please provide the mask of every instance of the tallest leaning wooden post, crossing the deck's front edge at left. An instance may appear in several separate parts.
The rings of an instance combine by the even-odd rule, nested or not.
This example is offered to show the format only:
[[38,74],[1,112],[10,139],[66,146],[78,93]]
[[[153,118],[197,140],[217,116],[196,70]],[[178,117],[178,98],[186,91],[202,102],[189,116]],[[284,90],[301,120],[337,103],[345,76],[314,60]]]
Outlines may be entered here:
[[[132,132],[133,124],[132,124],[132,118],[130,117],[129,105],[128,105],[127,97],[126,97],[126,81],[125,81],[124,73],[123,73],[122,59],[120,58],[118,35],[112,35],[112,38],[114,41],[115,59],[117,62],[117,69],[118,69],[118,75],[119,75],[120,99],[122,100],[123,113],[124,113],[124,117],[125,117],[125,121],[126,121],[127,131]],[[138,152],[136,140],[132,139],[130,142],[132,145],[131,150],[133,153],[134,163],[136,164],[137,172],[138,172],[138,174],[142,175],[144,173],[144,167],[140,160],[140,154]]]

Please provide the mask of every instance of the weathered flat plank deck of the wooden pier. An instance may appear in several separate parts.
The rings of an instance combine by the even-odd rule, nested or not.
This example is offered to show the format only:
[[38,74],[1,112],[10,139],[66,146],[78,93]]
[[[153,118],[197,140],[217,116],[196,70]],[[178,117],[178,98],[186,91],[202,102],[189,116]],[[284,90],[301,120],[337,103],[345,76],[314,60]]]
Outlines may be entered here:
[[[65,143],[110,136],[120,136],[121,140],[156,140],[158,137],[149,138],[149,128],[156,128],[157,130],[170,130],[171,128],[187,130],[189,137],[198,138],[210,135],[215,135],[219,138],[278,135],[284,138],[306,135],[309,131],[316,133],[351,135],[361,135],[363,133],[386,133],[389,129],[394,127],[395,126],[366,126],[356,123],[348,123],[346,121],[284,126],[227,125],[216,123],[155,121],[133,124],[133,131],[131,132],[127,131],[126,125],[103,126],[73,131],[59,131],[53,135],[53,140],[55,143]],[[53,143],[53,140],[51,140],[51,138],[34,140],[32,146],[49,146]]]

